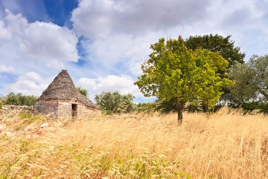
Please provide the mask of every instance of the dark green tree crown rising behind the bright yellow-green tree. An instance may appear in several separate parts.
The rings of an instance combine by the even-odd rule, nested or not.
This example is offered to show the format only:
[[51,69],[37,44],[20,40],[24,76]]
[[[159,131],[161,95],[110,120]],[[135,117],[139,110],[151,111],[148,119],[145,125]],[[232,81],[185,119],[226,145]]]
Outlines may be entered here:
[[190,36],[185,40],[188,49],[196,50],[198,48],[207,49],[211,52],[218,52],[222,57],[228,60],[229,65],[236,62],[243,63],[246,54],[240,52],[240,47],[234,46],[234,41],[230,39],[231,35],[223,37],[221,35],[197,35]]

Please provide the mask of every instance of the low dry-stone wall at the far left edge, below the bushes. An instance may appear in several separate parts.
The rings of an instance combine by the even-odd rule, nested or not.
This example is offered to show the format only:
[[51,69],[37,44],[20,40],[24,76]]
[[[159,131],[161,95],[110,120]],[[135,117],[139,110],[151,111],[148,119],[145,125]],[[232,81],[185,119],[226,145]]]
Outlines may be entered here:
[[0,109],[0,115],[12,117],[18,115],[22,110],[33,110],[33,106],[3,105],[2,109]]

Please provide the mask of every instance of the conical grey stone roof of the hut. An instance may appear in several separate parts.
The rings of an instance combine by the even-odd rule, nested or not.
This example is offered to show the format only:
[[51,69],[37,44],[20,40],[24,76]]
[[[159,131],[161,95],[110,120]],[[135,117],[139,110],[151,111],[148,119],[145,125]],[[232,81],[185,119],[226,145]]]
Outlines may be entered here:
[[39,100],[77,100],[84,103],[86,106],[100,108],[92,101],[82,95],[72,82],[67,70],[62,70],[45,89],[42,95],[37,99]]

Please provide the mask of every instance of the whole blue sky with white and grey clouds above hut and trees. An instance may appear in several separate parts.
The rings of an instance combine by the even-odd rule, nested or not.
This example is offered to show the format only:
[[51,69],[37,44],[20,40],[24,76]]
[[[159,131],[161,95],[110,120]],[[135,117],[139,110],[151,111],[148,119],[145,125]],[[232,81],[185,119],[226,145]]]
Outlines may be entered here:
[[160,37],[232,35],[268,54],[268,1],[0,0],[0,95],[39,96],[68,70],[90,99],[102,91],[144,98],[133,82]]

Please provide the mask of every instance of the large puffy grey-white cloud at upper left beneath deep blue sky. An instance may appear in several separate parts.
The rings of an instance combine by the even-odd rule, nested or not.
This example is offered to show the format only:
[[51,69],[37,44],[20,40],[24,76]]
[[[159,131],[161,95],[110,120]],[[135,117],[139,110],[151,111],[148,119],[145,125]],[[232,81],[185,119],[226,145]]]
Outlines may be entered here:
[[[48,68],[62,68],[66,61],[78,61],[78,37],[74,31],[53,23],[28,23],[21,14],[8,9],[5,13],[0,21],[0,51],[12,48],[12,60],[40,62]],[[8,54],[0,57],[9,60],[10,56],[4,55]]]

